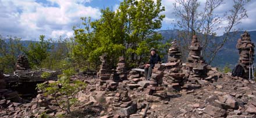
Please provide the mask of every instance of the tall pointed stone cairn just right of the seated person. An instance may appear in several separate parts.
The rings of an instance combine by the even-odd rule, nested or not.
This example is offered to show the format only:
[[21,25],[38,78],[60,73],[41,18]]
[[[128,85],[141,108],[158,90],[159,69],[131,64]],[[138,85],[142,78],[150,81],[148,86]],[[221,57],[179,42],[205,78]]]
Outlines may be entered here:
[[173,40],[172,46],[168,51],[168,62],[165,64],[165,80],[168,92],[179,91],[184,84],[184,73],[182,73],[181,53],[177,47],[176,40]]

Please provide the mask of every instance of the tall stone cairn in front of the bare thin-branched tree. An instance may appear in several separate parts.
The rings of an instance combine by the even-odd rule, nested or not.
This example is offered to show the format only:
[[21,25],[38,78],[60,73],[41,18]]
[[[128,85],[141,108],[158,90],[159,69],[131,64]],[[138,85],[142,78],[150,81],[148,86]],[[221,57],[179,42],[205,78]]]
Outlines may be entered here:
[[198,42],[197,36],[194,35],[191,41],[190,53],[187,58],[188,62],[186,63],[186,67],[189,68],[189,80],[201,79],[205,75],[207,64],[201,56],[202,47],[200,46],[200,42]]

